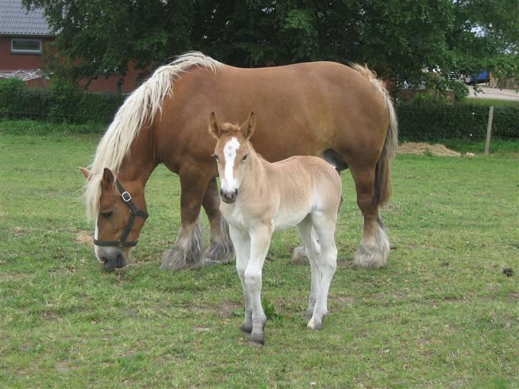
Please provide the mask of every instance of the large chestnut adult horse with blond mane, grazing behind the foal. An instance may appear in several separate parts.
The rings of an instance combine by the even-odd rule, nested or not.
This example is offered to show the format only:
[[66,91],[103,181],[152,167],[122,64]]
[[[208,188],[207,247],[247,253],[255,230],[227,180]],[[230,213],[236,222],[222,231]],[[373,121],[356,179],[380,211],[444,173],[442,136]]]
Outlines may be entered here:
[[[94,250],[106,269],[125,266],[148,216],[146,182],[160,163],[180,176],[181,187],[180,231],[161,269],[232,260],[218,209],[215,140],[207,137],[207,115],[215,112],[228,121],[252,110],[258,118],[252,142],[266,160],[316,155],[338,170],[349,167],[364,214],[354,265],[386,264],[389,241],[379,207],[389,199],[397,123],[391,98],[371,71],[333,62],[244,69],[191,52],[158,68],[125,100],[91,170],[82,169],[88,178],[87,213],[96,218]],[[200,207],[210,222],[205,252]]]

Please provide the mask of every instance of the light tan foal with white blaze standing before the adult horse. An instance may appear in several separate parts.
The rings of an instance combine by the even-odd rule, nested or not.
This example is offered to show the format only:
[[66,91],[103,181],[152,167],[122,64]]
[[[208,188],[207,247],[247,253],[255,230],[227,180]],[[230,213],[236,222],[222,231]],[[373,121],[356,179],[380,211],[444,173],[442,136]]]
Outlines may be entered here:
[[[342,185],[334,167],[318,157],[264,160],[249,142],[255,124],[254,113],[241,127],[218,123],[215,113],[209,119],[209,132],[217,139],[220,212],[229,223],[245,295],[245,321],[240,329],[250,333],[252,345],[262,345],[267,321],[260,296],[262,267],[277,229],[295,226],[307,247],[312,286],[305,317],[310,318],[308,328],[322,328],[336,268],[334,234]],[[317,237],[312,237],[312,227]]]

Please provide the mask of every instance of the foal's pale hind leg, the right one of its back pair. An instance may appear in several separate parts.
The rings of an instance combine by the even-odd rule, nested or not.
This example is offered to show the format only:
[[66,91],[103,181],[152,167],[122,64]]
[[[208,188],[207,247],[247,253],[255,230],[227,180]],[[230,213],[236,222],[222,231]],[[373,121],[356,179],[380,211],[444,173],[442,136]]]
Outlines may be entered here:
[[308,323],[311,330],[322,329],[322,321],[328,313],[328,291],[337,267],[337,249],[335,247],[335,226],[337,221],[336,210],[332,212],[316,211],[312,213],[312,224],[321,246],[321,255],[317,261],[321,271],[321,282],[314,313]]

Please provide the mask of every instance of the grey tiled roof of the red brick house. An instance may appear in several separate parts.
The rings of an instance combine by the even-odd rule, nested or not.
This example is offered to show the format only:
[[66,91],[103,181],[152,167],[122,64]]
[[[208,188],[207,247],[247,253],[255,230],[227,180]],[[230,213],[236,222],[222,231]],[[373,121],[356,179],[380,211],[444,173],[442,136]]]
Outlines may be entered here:
[[0,35],[51,35],[51,28],[43,9],[27,11],[21,0],[1,0]]

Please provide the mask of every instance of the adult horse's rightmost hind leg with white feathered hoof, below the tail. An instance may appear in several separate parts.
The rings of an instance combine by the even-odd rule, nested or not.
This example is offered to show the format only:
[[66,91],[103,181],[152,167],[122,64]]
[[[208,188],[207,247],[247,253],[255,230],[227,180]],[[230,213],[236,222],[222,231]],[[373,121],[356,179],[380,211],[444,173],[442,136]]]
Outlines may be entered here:
[[355,181],[357,204],[364,214],[364,234],[353,264],[355,267],[378,269],[387,262],[389,240],[376,204],[375,167],[359,169],[350,166],[350,170]]

